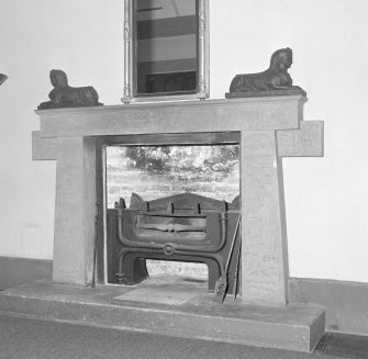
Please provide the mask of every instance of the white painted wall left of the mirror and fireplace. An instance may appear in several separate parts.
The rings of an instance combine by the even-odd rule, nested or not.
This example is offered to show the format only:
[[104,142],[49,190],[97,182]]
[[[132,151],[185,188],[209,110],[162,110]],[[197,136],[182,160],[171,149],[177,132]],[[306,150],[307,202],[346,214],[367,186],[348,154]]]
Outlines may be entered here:
[[1,0],[0,256],[53,257],[56,166],[31,159],[33,111],[48,100],[52,68],[120,102],[122,16],[121,0]]

